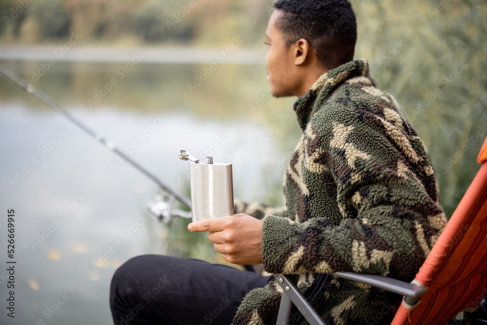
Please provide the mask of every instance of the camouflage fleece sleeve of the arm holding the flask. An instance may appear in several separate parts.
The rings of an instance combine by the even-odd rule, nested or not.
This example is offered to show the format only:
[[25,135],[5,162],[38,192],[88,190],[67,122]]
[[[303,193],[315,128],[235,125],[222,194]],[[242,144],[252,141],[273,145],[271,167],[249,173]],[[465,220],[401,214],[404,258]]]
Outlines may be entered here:
[[421,140],[387,109],[338,105],[313,116],[286,174],[299,192],[286,197],[296,216],[263,219],[267,272],[412,280],[446,218]]

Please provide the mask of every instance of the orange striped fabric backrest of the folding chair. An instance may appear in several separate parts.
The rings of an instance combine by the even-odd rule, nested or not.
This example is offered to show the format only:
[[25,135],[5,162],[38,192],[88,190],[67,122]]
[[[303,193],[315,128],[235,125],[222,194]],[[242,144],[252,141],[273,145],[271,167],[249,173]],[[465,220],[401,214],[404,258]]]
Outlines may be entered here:
[[477,307],[487,294],[487,138],[483,166],[414,280],[429,287],[412,311],[401,306],[392,325],[443,325]]

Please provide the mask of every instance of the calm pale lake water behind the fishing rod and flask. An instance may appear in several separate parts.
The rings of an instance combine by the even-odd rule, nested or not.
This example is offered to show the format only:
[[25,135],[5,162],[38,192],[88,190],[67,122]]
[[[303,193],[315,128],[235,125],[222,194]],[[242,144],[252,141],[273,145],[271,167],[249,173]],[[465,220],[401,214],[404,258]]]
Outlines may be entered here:
[[[1,63],[28,78],[42,61]],[[293,99],[263,96],[268,88],[264,66],[221,65],[193,93],[187,84],[207,64],[140,63],[123,79],[116,74],[120,66],[58,62],[36,87],[127,148],[131,158],[176,191],[189,195],[188,164],[177,157],[186,149],[232,162],[237,198],[281,200],[282,165],[300,130]],[[90,109],[88,99],[112,78],[117,84]],[[262,104],[252,112],[249,105],[258,98]],[[159,191],[149,179],[126,162],[114,168],[112,152],[3,76],[0,157],[2,310],[10,209],[15,210],[12,260],[17,261],[15,319],[2,315],[1,324],[35,324],[38,319],[59,325],[111,324],[110,280],[130,257],[169,253],[220,261],[203,237],[188,236],[185,220],[174,219],[168,226],[150,218],[147,203]],[[114,251],[117,241],[121,245]],[[100,254],[109,258],[100,260]],[[64,304],[57,309],[59,298]]]

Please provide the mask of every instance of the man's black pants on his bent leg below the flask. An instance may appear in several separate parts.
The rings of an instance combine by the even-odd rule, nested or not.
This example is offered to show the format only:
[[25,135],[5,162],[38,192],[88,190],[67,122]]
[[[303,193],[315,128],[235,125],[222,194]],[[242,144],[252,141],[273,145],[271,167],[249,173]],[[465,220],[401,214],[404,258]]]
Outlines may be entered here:
[[271,278],[200,260],[137,256],[113,275],[113,322],[229,325],[245,294]]

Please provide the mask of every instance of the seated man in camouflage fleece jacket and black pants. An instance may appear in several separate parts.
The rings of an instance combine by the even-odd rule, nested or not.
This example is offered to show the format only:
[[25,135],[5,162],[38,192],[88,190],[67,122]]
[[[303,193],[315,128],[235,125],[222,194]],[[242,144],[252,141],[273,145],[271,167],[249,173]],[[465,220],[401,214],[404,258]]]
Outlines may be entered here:
[[[413,279],[446,225],[431,161],[393,97],[375,87],[369,63],[353,61],[356,19],[347,0],[274,6],[267,78],[274,96],[299,97],[303,130],[285,174],[285,209],[264,211],[261,221],[237,205],[246,214],[188,229],[209,232],[230,263],[299,274],[298,287],[328,325],[387,324],[401,297],[324,274]],[[130,260],[112,282],[115,324],[270,325],[280,300],[273,276],[155,255]]]

